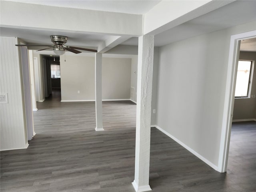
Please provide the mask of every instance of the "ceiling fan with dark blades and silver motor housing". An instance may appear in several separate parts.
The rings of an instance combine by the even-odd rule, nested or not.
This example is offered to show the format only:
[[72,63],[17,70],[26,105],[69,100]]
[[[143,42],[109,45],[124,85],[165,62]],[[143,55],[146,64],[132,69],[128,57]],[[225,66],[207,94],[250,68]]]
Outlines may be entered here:
[[51,37],[51,40],[54,43],[54,45],[41,45],[41,44],[38,44],[38,45],[35,45],[35,44],[22,45],[22,44],[18,44],[16,46],[42,46],[42,47],[48,47],[48,48],[40,49],[40,50],[37,50],[37,51],[42,51],[42,50],[46,50],[46,49],[52,49],[54,51],[54,53],[57,54],[57,55],[62,55],[66,51],[70,51],[70,52],[73,52],[73,53],[76,53],[76,54],[82,53],[81,51],[78,51],[78,50],[97,52],[97,50],[95,50],[95,49],[87,49],[87,48],[73,47],[73,46],[64,46],[64,44],[68,40],[68,37],[66,37],[66,36],[51,35],[50,37]]

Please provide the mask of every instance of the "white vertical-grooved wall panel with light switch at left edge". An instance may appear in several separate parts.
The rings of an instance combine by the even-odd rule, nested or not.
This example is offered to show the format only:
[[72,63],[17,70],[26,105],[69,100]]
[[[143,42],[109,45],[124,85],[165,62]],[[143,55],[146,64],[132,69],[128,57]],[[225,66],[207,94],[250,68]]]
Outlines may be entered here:
[[0,40],[0,94],[8,94],[8,103],[0,104],[0,150],[26,148],[17,39],[1,37]]

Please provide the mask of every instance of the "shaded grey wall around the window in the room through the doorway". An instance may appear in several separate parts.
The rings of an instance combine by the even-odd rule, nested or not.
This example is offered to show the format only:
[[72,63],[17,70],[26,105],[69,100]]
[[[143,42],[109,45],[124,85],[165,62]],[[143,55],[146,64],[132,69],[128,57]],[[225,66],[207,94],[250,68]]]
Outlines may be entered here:
[[[240,52],[240,60],[256,61],[256,52]],[[256,108],[256,63],[254,63],[254,73],[252,76],[252,89],[250,98],[235,98],[233,120],[254,119]]]

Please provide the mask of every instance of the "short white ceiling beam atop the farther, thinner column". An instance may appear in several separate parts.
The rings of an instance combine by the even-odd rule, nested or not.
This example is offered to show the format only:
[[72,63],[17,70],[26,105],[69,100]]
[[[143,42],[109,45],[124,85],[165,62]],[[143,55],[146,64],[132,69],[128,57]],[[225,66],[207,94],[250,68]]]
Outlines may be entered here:
[[131,36],[110,36],[98,46],[97,50],[100,53],[104,53],[130,38]]

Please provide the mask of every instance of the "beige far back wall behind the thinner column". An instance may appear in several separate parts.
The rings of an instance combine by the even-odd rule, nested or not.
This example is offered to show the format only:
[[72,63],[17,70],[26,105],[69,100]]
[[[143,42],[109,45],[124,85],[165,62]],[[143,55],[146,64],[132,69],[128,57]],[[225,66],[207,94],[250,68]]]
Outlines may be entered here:
[[[94,57],[60,56],[62,101],[95,99],[94,65]],[[130,99],[130,82],[130,58],[102,58],[102,99]]]

